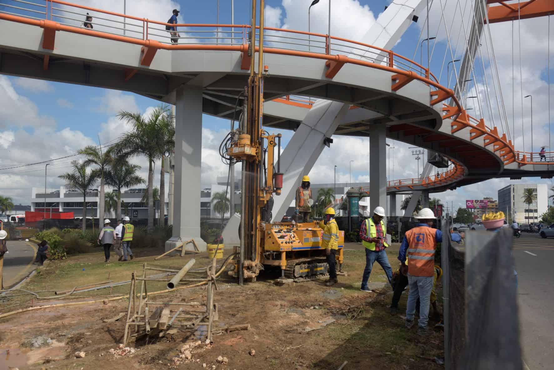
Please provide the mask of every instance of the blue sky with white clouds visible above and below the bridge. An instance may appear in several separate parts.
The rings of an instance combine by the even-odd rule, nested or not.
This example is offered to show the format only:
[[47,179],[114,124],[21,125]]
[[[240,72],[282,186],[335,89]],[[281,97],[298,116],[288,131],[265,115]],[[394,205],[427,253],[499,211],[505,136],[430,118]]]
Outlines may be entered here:
[[[34,1],[34,0],[33,0]],[[38,1],[38,0],[37,0]],[[109,9],[115,12],[122,12],[122,0],[118,1],[109,1],[109,0],[75,0],[76,3],[88,4],[93,7],[99,7],[104,9]],[[171,16],[171,9],[177,7],[181,9],[181,15],[179,16],[179,22],[186,23],[216,23],[216,6],[217,0],[207,0],[202,2],[192,2],[192,1],[171,1],[171,0],[141,0],[141,1],[127,1],[127,13],[132,15],[137,15],[140,17],[150,17],[152,19],[166,21],[167,18]],[[219,1],[219,21],[220,23],[230,23],[230,0],[220,0]],[[307,7],[311,3],[311,0],[269,0],[266,1],[268,11],[268,21],[273,22],[271,25],[276,27],[288,27],[291,29],[307,30]],[[435,2],[439,3],[439,2]],[[460,14],[463,12],[458,10],[454,6],[456,4],[453,0],[444,0],[443,3],[447,4],[446,18],[449,20],[447,22],[448,27],[453,25],[450,32],[450,42],[452,44],[453,53],[455,53],[456,46],[458,47],[458,53],[455,54],[454,58],[459,58],[464,50],[463,44],[463,30],[461,29],[461,23],[459,22]],[[359,39],[363,41],[362,34],[363,29],[367,29],[372,22],[378,17],[378,15],[384,11],[384,7],[389,4],[389,1],[386,0],[332,0],[332,22],[331,22],[331,34],[338,34],[346,38]],[[449,4],[449,6],[448,6]],[[464,14],[469,14],[471,2],[461,2],[462,7],[467,6],[467,12]],[[348,9],[355,9],[350,14],[344,14],[342,12],[343,7],[350,7]],[[1,9],[0,9],[1,10]],[[456,13],[458,12],[458,13]],[[441,24],[439,27],[439,20],[442,16],[442,12],[437,5],[433,6],[430,10],[432,22],[430,23],[430,36],[437,35],[438,42],[430,43],[430,47],[435,47],[435,53],[431,61],[431,70],[433,73],[439,77],[440,70],[443,69],[443,77],[441,82],[446,84],[446,63],[452,59],[450,56],[450,49],[448,48],[447,39],[445,38],[444,25]],[[247,24],[249,23],[249,2],[235,0],[235,24]],[[322,0],[319,4],[312,7],[311,10],[311,25],[312,32],[321,32],[326,33],[327,30],[327,2]],[[464,19],[468,15],[465,15]],[[413,23],[408,28],[407,32],[402,35],[401,40],[394,46],[393,50],[398,54],[404,55],[409,59],[414,59],[416,61],[420,60],[419,54],[419,40],[420,40],[420,31],[424,23],[425,14],[420,14],[418,23]],[[457,23],[456,23],[456,20]],[[352,24],[357,23],[357,24]],[[502,85],[502,93],[504,94],[504,99],[506,102],[506,111],[509,112],[508,123],[511,127],[512,117],[511,117],[511,81],[516,81],[517,84],[515,87],[515,126],[516,132],[514,134],[516,145],[519,145],[521,142],[521,127],[523,125],[524,129],[527,130],[527,122],[530,120],[530,111],[527,101],[524,101],[523,109],[521,109],[520,97],[518,94],[523,93],[524,95],[533,94],[535,100],[535,141],[538,143],[545,143],[547,132],[548,132],[548,118],[547,110],[540,109],[541,106],[547,105],[547,35],[546,35],[546,25],[547,18],[537,18],[536,20],[524,20],[521,21],[521,33],[522,40],[522,74],[521,80],[519,77],[519,60],[516,59],[516,75],[514,79],[511,77],[511,24],[495,24],[491,25],[491,34],[493,37],[493,43],[495,45],[496,52],[496,61],[498,65],[498,70],[502,76],[500,79],[500,84]],[[519,42],[517,40],[517,29],[516,24],[516,40],[515,46],[516,49],[519,48]],[[551,32],[552,32],[551,27]],[[437,32],[438,30],[438,32]],[[427,37],[426,29],[423,32],[422,39]],[[461,37],[456,44],[456,37],[458,34]],[[552,34],[554,35],[554,33]],[[552,37],[551,37],[552,39]],[[551,45],[552,48],[552,45]],[[554,48],[553,48],[554,49]],[[416,55],[414,57],[414,51]],[[483,48],[483,52],[486,52],[486,49]],[[446,56],[445,56],[446,54]],[[423,55],[425,65],[427,59],[427,50],[425,48],[425,43],[423,47]],[[444,62],[443,62],[444,60]],[[490,70],[490,64],[488,57],[483,55],[483,62],[485,67],[485,74],[489,77],[489,89],[492,91],[492,81],[493,73]],[[478,59],[478,65],[481,65],[481,59]],[[551,73],[554,75],[554,63],[551,63],[553,69]],[[481,68],[481,67],[479,67]],[[451,68],[452,70],[452,68]],[[0,75],[2,78],[2,75]],[[23,141],[24,136],[18,131],[23,130],[28,137],[38,136],[33,138],[36,142],[42,141],[55,141],[59,137],[59,133],[63,130],[70,131],[68,137],[74,138],[75,141],[72,145],[67,145],[67,148],[64,150],[56,151],[55,149],[60,149],[58,147],[52,146],[50,148],[45,147],[44,150],[35,149],[34,153],[40,155],[41,157],[50,157],[58,156],[58,153],[71,152],[75,150],[75,147],[81,143],[95,143],[98,142],[99,133],[106,132],[113,127],[113,130],[119,130],[118,126],[115,126],[114,117],[117,110],[120,109],[129,109],[129,110],[138,110],[145,112],[148,107],[152,107],[158,104],[157,101],[148,99],[146,97],[130,94],[130,93],[121,93],[117,91],[107,91],[100,88],[90,88],[87,86],[79,85],[70,85],[62,83],[52,83],[44,81],[27,81],[21,80],[15,77],[8,77],[9,84],[11,88],[14,89],[16,94],[19,95],[19,100],[28,99],[36,108],[35,116],[40,117],[45,123],[44,125],[28,125],[30,122],[27,119],[22,119],[22,122],[12,121],[8,125],[2,127],[3,132],[6,134],[6,137],[11,137],[9,135],[14,135],[13,140],[9,145],[4,145],[8,153],[12,153],[9,157],[4,157],[3,160],[0,160],[0,165],[14,164],[18,163],[28,163],[29,161],[25,158],[24,155],[16,151],[15,146],[24,147],[25,141]],[[476,79],[479,80],[480,84],[480,93],[484,93],[483,85],[481,83],[481,77],[476,76]],[[520,81],[521,85],[520,85]],[[2,81],[0,80],[0,83]],[[496,80],[496,83],[499,83]],[[453,84],[450,85],[451,87]],[[481,91],[483,90],[483,91]],[[475,95],[475,90],[470,91],[468,95]],[[0,97],[2,99],[2,97]],[[494,96],[493,96],[494,100]],[[468,106],[472,104],[469,103]],[[33,108],[34,109],[34,108]],[[30,109],[32,110],[32,109]],[[473,112],[478,114],[478,109]],[[27,114],[27,112],[25,112]],[[30,114],[30,113],[29,113]],[[496,112],[497,115],[497,112]],[[24,117],[22,117],[24,118]],[[497,125],[499,125],[499,117],[497,117]],[[27,122],[27,123],[25,123]],[[52,126],[48,122],[53,122]],[[111,126],[114,125],[114,126]],[[49,128],[48,128],[49,127]],[[203,117],[203,128],[206,130],[206,135],[204,136],[204,142],[206,147],[203,148],[206,151],[206,155],[211,155],[209,150],[211,147],[209,145],[215,145],[217,143],[220,134],[223,135],[224,130],[227,130],[228,121],[217,119],[215,117],[204,116]],[[500,125],[499,125],[500,128]],[[44,131],[44,130],[50,131]],[[9,135],[8,135],[9,134]],[[82,134],[79,135],[79,134]],[[284,134],[284,145],[288,142],[288,139],[292,135],[292,132],[283,132]],[[0,145],[2,145],[2,139],[0,138]],[[5,140],[5,139],[4,139]],[[337,143],[338,142],[338,143]],[[336,140],[334,148],[325,152],[325,158],[322,158],[321,163],[324,161],[329,161],[328,158],[335,156],[335,151],[347,151],[347,160],[352,158],[356,160],[352,163],[352,178],[356,181],[367,181],[368,179],[368,165],[365,158],[360,157],[360,151],[350,151],[352,147],[362,147],[363,152],[366,152],[368,148],[367,138],[345,138],[341,137]],[[526,142],[529,142],[529,137],[526,138]],[[39,145],[39,144],[37,144]],[[398,150],[392,151],[392,161],[396,162],[396,168],[394,173],[391,173],[391,178],[408,178],[416,176],[417,169],[416,164],[412,161],[412,156],[408,153],[408,146],[403,143],[396,143]],[[527,144],[529,145],[529,144]],[[535,147],[537,146],[535,145]],[[59,146],[59,145],[58,145]],[[350,147],[350,148],[349,148]],[[526,150],[529,150],[527,147]],[[538,148],[535,148],[538,150]],[[55,152],[55,154],[54,154]],[[17,155],[16,155],[17,153]],[[406,156],[410,161],[406,161]],[[207,157],[212,158],[212,157]],[[209,184],[213,176],[221,175],[224,171],[220,167],[210,167],[211,160],[206,159],[206,172],[203,169],[203,184]],[[319,164],[318,164],[319,163]],[[321,169],[321,163],[316,163],[316,167]],[[65,163],[68,166],[68,163]],[[204,158],[203,158],[204,166]],[[60,171],[63,171],[64,167],[59,166]],[[316,168],[315,167],[315,168]],[[34,167],[32,168],[34,169]],[[30,194],[30,187],[40,186],[40,170],[38,167],[36,172],[25,172],[24,174],[12,174],[14,177],[14,185],[11,187],[4,187],[0,189],[3,193],[11,194],[14,198],[19,199],[21,202],[25,203],[25,199],[28,199],[28,194]],[[213,176],[207,176],[207,172],[214,172]],[[319,171],[321,172],[321,171]],[[225,172],[226,173],[226,172]],[[204,176],[206,175],[206,176]],[[17,178],[16,178],[17,177]],[[350,178],[350,173],[348,168],[340,168],[337,171],[337,181],[348,181]],[[536,182],[541,181],[538,179],[524,179],[521,182]],[[544,180],[542,180],[544,181]],[[548,181],[550,183],[550,181]],[[496,190],[500,187],[505,186],[509,183],[508,180],[499,180],[491,183],[491,186],[484,186],[484,184],[479,184],[475,186],[466,187],[459,189],[456,192],[456,195],[453,192],[447,192],[439,197],[443,197],[445,201],[450,201],[456,199],[456,202],[459,201],[460,204],[463,204],[465,198],[479,198],[480,196],[493,196],[496,197]],[[59,186],[59,182],[52,179],[49,186]]]

